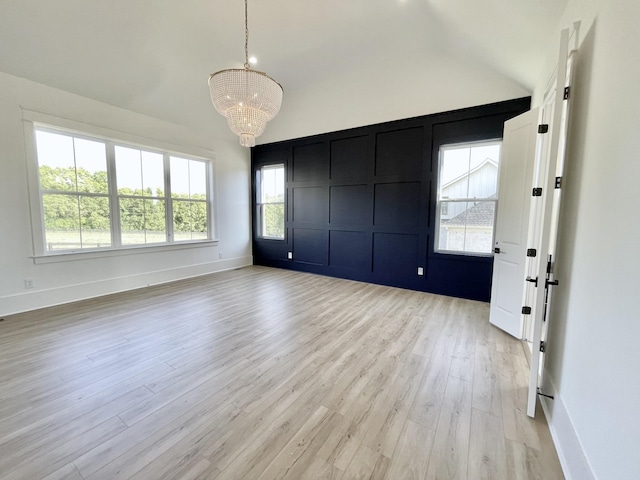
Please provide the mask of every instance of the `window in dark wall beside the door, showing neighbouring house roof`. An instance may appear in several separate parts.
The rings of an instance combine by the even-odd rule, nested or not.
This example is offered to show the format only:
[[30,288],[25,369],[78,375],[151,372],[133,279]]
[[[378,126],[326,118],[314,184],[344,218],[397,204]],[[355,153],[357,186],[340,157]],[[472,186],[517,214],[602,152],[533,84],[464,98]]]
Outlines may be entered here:
[[490,254],[502,142],[440,148],[436,251]]

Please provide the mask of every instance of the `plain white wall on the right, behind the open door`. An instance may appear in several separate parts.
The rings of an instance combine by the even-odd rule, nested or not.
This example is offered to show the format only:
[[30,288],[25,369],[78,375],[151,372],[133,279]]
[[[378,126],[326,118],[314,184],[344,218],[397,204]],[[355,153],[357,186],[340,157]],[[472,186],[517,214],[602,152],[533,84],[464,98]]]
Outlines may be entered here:
[[640,478],[640,3],[570,0],[560,27],[575,20],[581,44],[546,364],[556,399],[545,405],[567,478],[629,480]]

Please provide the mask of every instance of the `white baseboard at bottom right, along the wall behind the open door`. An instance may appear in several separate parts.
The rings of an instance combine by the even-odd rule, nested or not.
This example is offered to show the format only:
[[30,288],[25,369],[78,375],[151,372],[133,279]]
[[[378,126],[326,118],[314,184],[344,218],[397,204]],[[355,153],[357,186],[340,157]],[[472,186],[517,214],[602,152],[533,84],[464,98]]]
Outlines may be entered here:
[[[554,399],[540,397],[544,416],[549,424],[553,443],[558,452],[562,471],[567,480],[596,480],[580,438],[573,428],[562,397],[557,394],[553,379],[545,373],[545,383],[551,387]],[[546,393],[546,392],[545,392]]]

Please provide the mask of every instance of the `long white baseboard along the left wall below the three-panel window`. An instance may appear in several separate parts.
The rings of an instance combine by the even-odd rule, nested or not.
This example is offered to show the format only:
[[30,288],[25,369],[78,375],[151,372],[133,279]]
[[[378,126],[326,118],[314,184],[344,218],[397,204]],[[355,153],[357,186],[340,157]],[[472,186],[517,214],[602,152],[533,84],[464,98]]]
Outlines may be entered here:
[[29,310],[77,302],[79,300],[87,300],[89,298],[134,290],[136,288],[246,267],[252,264],[253,257],[251,256],[230,258],[217,262],[200,263],[186,267],[156,270],[136,275],[107,278],[95,282],[65,285],[17,295],[8,295],[0,297],[0,316],[13,315]]

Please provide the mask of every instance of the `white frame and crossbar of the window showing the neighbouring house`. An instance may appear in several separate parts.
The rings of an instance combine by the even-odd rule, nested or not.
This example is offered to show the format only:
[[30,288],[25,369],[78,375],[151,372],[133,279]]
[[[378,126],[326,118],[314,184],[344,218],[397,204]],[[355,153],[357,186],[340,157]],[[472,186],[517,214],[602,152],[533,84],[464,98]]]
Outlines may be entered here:
[[[486,140],[475,140],[469,142],[457,142],[457,143],[443,143],[438,147],[438,170],[436,172],[437,175],[437,188],[436,188],[436,202],[435,202],[435,232],[434,232],[434,244],[433,251],[435,254],[441,255],[456,255],[461,257],[493,257],[493,249],[489,252],[474,252],[474,251],[464,251],[464,250],[447,250],[439,248],[440,245],[440,232],[441,232],[441,220],[442,220],[442,206],[446,204],[449,206],[452,203],[493,203],[493,225],[491,227],[491,245],[495,242],[496,235],[496,219],[498,212],[498,201],[500,198],[499,192],[499,179],[500,179],[500,163],[502,159],[502,138],[490,138]],[[497,178],[496,178],[496,194],[495,198],[478,198],[478,197],[456,197],[456,198],[447,198],[443,199],[441,194],[441,171],[442,171],[442,162],[444,160],[444,151],[445,150],[455,150],[459,148],[474,148],[481,146],[488,146],[492,144],[500,145],[500,154],[498,157],[498,169],[497,169]],[[470,173],[472,169],[469,169],[467,173]],[[468,191],[467,191],[468,194]],[[450,209],[448,208],[447,211]],[[467,233],[467,225],[465,224],[465,237]]]

